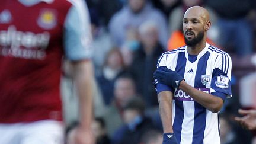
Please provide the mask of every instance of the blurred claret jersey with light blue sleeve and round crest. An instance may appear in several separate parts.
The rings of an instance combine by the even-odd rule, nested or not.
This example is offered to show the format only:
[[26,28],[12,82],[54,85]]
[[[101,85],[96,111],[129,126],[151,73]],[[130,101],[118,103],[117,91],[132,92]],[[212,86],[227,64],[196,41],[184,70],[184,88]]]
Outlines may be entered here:
[[0,123],[62,120],[63,55],[91,56],[82,0],[2,0],[0,5]]

